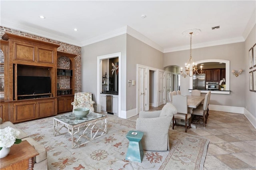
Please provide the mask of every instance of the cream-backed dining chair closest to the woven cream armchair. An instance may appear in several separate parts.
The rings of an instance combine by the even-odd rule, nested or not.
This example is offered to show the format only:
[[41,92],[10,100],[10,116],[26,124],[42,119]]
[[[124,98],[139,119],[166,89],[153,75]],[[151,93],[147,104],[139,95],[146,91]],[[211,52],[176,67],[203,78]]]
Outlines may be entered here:
[[[174,126],[182,126],[185,127],[185,132],[187,132],[187,128],[190,127],[191,124],[191,114],[188,113],[188,103],[187,103],[187,97],[182,95],[174,95],[172,96],[172,105],[176,107],[177,114],[173,116],[172,118],[172,129],[174,129]],[[185,120],[185,126],[177,124],[177,119]],[[189,126],[187,126],[187,123],[189,121]],[[175,122],[175,123],[174,123]]]

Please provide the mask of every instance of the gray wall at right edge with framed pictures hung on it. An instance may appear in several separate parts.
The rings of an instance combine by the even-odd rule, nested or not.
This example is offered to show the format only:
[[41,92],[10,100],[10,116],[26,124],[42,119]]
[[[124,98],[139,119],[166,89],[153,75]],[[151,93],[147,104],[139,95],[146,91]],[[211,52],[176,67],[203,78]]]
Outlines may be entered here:
[[[249,49],[256,43],[256,25],[248,35],[244,45],[244,60],[245,60],[245,83],[241,83],[245,85],[244,93],[245,93],[245,108],[256,117],[256,92],[249,91],[249,72],[255,70],[256,68],[249,69]],[[256,46],[255,46],[256,47]],[[239,75],[240,76],[240,75]],[[238,77],[239,78],[239,77]]]

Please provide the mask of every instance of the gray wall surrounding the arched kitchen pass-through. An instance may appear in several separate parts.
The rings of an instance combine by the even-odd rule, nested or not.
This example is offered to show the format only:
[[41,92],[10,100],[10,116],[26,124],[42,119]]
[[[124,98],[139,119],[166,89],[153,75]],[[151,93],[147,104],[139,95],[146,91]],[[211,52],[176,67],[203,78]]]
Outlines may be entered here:
[[[245,89],[247,86],[249,86],[248,81],[245,82],[245,77],[248,73],[243,72],[242,75],[239,75],[239,77],[236,77],[231,73],[231,70],[233,69],[246,69],[245,63],[247,60],[244,58],[244,53],[244,42],[192,49],[192,58],[195,61],[200,61],[203,59],[230,60],[230,95],[212,94],[210,104],[245,107]],[[189,56],[190,50],[164,53],[164,67],[178,65],[184,68]],[[184,77],[181,77],[180,91],[182,91],[182,94],[184,95],[190,95],[188,89],[189,77],[186,77],[185,79]]]

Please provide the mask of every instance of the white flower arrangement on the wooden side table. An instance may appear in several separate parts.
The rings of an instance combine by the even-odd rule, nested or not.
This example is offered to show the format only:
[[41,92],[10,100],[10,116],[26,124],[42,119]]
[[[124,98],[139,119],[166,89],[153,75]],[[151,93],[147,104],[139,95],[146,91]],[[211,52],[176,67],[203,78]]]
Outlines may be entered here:
[[12,128],[6,127],[0,129],[0,150],[2,147],[10,148],[13,144],[19,144],[21,139],[18,139],[20,131]]

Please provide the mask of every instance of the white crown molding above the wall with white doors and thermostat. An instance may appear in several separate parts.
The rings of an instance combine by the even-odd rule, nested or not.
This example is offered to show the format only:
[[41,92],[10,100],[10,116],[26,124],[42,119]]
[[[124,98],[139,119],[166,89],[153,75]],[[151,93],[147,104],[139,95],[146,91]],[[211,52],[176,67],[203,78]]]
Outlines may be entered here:
[[158,45],[157,43],[153,42],[143,34],[139,33],[138,31],[134,30],[133,28],[127,26],[127,34],[130,36],[140,40],[141,42],[146,43],[150,47],[153,47],[154,49],[157,49],[158,51],[161,51],[162,53],[164,52],[164,48]]

